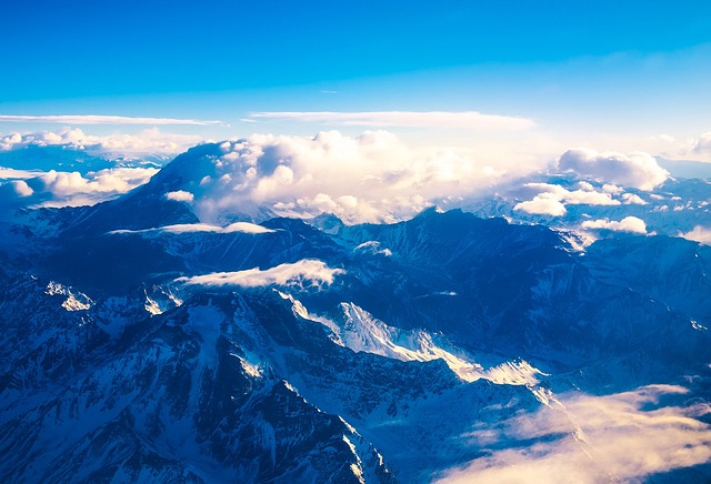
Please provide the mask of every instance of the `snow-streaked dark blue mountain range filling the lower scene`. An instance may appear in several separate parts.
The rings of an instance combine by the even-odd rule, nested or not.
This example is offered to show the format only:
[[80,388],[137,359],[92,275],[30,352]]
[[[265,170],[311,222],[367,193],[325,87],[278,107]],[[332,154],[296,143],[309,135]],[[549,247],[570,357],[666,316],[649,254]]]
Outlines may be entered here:
[[41,150],[0,159],[2,482],[711,481],[705,179],[208,221],[220,144],[61,208]]

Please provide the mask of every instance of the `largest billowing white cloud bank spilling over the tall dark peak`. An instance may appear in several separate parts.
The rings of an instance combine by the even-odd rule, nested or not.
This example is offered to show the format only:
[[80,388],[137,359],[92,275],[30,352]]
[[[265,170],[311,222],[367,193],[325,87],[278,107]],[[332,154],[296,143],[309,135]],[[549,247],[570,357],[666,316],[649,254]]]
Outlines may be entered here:
[[212,160],[181,167],[203,222],[231,214],[333,213],[347,222],[393,221],[488,189],[503,171],[454,150],[413,149],[385,131],[351,138],[254,134],[220,144]]

